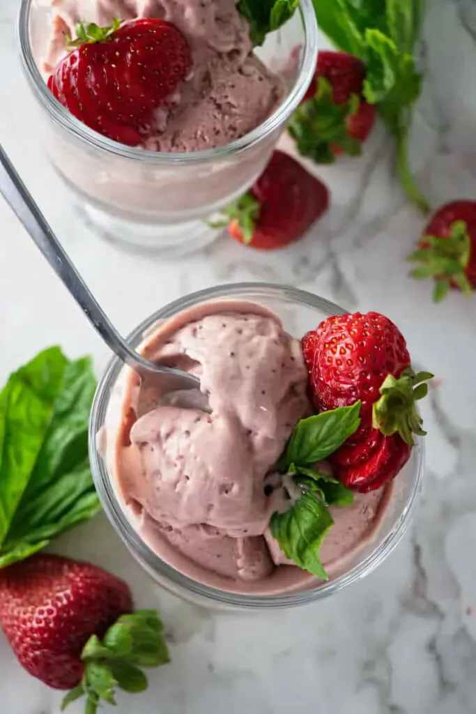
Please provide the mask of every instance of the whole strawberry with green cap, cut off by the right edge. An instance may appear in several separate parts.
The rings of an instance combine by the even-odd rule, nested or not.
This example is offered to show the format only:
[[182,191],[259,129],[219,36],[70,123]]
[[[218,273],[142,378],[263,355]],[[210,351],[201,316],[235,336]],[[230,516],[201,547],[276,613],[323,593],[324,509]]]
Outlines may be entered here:
[[450,288],[471,296],[476,288],[476,201],[452,201],[439,208],[408,259],[421,263],[412,277],[435,281],[435,302]]

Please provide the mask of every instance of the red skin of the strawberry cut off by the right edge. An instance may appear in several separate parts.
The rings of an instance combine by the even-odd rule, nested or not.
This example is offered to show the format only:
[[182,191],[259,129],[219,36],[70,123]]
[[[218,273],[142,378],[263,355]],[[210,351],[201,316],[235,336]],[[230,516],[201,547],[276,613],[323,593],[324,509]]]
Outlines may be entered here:
[[[456,221],[465,221],[470,236],[470,261],[465,268],[465,274],[472,288],[476,288],[476,201],[452,201],[439,208],[422,233],[421,247],[429,247],[429,244],[425,243],[425,236],[449,238],[452,223]],[[456,283],[452,281],[451,287],[457,288]]]

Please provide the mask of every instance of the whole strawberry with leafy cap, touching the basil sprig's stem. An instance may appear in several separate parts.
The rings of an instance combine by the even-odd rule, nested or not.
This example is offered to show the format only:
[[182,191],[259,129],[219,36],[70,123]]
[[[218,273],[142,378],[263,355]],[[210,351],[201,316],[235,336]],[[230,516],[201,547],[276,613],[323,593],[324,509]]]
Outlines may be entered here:
[[345,52],[318,53],[315,75],[289,133],[303,156],[330,164],[337,154],[358,156],[375,124],[375,106],[362,96],[363,61]]

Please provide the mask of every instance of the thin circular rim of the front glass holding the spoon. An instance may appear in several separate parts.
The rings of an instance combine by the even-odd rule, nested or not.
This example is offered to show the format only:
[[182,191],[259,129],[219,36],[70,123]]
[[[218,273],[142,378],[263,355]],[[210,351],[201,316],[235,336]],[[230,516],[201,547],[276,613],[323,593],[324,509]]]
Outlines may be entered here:
[[[215,298],[233,298],[243,293],[249,293],[250,291],[261,293],[268,298],[273,296],[276,298],[285,297],[294,303],[302,303],[333,315],[342,315],[347,312],[325,298],[320,298],[319,296],[313,295],[313,293],[292,286],[260,282],[224,283],[214,286],[213,288],[205,288],[200,291],[188,293],[188,295],[168,303],[148,318],[145,318],[128,335],[127,339],[132,343],[137,340],[140,341],[143,332],[150,328],[155,321],[169,318],[178,311],[186,309],[191,305]],[[110,388],[116,381],[122,366],[118,357],[113,356],[113,358],[111,358],[98,382],[94,395],[89,421],[89,459],[91,461],[93,481],[98,491],[98,497],[103,506],[103,511],[106,513],[108,521],[113,528],[115,528],[121,540],[126,543],[133,555],[138,555],[138,560],[143,567],[145,567],[144,563],[146,563],[146,570],[148,570],[149,573],[151,573],[151,571],[158,571],[163,578],[173,583],[174,588],[172,588],[172,590],[176,594],[180,595],[180,590],[185,590],[188,595],[194,595],[201,600],[208,600],[209,603],[214,603],[216,607],[224,606],[240,610],[268,610],[305,605],[314,600],[320,600],[320,598],[325,598],[333,593],[337,593],[347,585],[365,577],[365,575],[372,572],[380,563],[383,563],[383,560],[388,558],[388,555],[390,555],[396,545],[400,543],[400,540],[411,523],[411,516],[415,510],[422,488],[425,462],[425,447],[422,438],[415,439],[415,447],[413,448],[414,458],[416,458],[417,461],[415,463],[415,483],[413,484],[412,493],[410,498],[407,499],[402,513],[400,513],[400,516],[396,519],[392,531],[383,538],[382,542],[379,543],[366,558],[363,558],[360,563],[354,565],[353,568],[350,568],[350,570],[338,578],[335,578],[335,580],[328,580],[328,582],[318,585],[317,588],[310,588],[309,590],[296,593],[285,593],[283,595],[247,595],[245,593],[231,593],[228,590],[212,588],[183,575],[156,555],[133,529],[118,503],[106,466],[96,449],[96,433],[98,427],[102,426],[102,423],[98,424],[98,421],[106,412]],[[160,567],[158,568],[158,566]]]

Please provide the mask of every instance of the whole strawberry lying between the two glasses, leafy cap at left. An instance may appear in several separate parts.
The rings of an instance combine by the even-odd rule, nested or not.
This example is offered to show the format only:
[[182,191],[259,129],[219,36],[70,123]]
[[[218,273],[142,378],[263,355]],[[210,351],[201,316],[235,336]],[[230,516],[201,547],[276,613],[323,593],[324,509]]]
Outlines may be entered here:
[[224,211],[228,233],[251,248],[271,250],[298,241],[328,209],[328,188],[283,151],[275,151],[248,193]]

